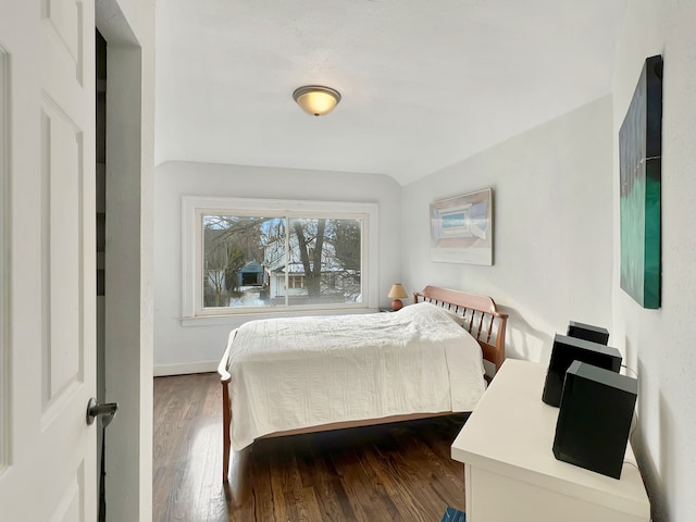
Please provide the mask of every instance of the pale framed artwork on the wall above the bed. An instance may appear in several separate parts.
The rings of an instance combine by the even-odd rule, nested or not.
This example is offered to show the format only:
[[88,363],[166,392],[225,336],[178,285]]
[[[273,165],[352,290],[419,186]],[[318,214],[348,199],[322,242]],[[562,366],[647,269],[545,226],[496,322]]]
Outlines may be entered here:
[[493,190],[431,203],[431,260],[493,264]]

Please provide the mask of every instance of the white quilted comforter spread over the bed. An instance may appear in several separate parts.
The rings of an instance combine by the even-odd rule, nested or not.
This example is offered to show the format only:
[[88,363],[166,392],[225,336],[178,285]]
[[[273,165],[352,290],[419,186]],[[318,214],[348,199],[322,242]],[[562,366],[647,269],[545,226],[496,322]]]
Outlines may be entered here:
[[398,313],[250,321],[229,343],[235,450],[278,431],[471,411],[485,390],[478,343],[427,302]]

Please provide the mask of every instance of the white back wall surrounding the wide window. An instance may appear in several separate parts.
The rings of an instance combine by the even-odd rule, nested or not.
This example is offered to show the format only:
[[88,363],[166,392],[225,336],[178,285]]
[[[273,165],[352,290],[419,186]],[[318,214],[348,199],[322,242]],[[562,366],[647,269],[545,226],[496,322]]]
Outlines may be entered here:
[[[244,319],[184,326],[182,314],[182,196],[222,196],[380,204],[381,303],[400,278],[401,188],[390,177],[291,169],[167,162],[154,175],[154,372],[215,370],[229,331]],[[254,319],[257,315],[253,316]]]

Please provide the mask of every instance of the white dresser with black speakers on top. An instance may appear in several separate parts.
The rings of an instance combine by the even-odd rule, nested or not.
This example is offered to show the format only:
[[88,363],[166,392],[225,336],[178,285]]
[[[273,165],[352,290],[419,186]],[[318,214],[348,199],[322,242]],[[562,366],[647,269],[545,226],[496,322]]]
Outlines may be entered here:
[[649,522],[631,445],[621,480],[556,460],[558,408],[546,365],[508,359],[452,443],[464,463],[467,522]]

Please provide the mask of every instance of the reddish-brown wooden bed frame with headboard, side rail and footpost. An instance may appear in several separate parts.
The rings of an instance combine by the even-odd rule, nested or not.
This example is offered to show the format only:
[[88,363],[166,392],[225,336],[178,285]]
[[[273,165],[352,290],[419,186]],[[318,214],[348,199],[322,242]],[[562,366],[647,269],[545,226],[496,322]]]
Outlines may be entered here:
[[[505,361],[505,332],[508,315],[498,311],[495,301],[487,296],[465,294],[463,291],[450,290],[436,286],[426,286],[422,291],[413,293],[413,302],[427,301],[438,307],[445,308],[463,318],[463,326],[481,345],[483,358],[495,366],[495,371]],[[236,335],[233,331],[231,336]],[[234,338],[234,337],[233,337]],[[232,343],[227,344],[225,353],[222,357],[217,373],[222,384],[222,409],[223,409],[223,482],[227,482],[229,469],[229,428],[231,428],[231,400],[229,400],[229,350]],[[488,381],[489,377],[486,377]],[[324,432],[328,430],[341,430],[346,427],[369,426],[374,424],[385,424],[389,422],[410,421],[415,419],[427,419],[432,417],[449,415],[453,411],[439,411],[433,413],[414,413],[406,415],[391,415],[381,419],[364,419],[361,421],[334,422],[311,426],[300,430],[288,430],[264,435],[260,438],[279,437],[286,435],[299,435],[303,433]]]

